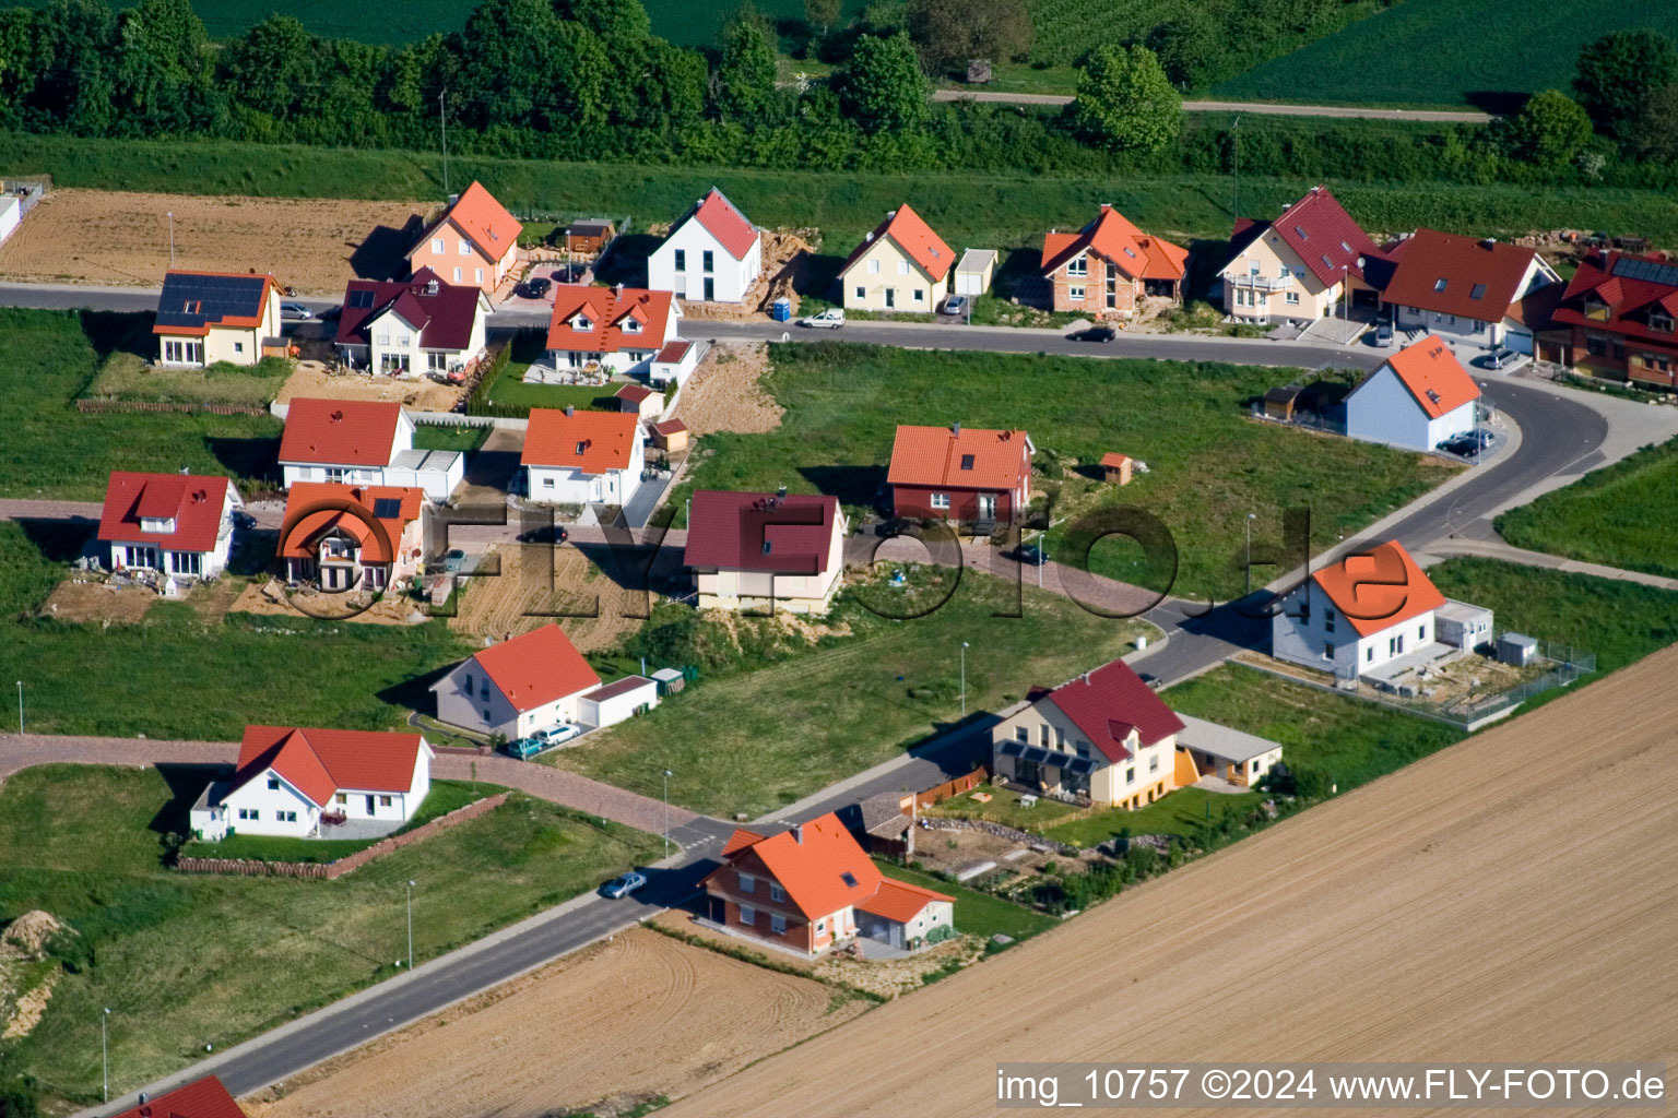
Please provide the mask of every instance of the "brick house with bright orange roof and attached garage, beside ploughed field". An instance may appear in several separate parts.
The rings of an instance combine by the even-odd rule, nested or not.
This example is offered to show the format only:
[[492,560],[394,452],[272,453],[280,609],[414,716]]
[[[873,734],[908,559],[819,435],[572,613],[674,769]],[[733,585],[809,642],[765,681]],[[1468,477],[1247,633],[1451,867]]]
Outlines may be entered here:
[[722,858],[701,882],[710,919],[784,950],[857,937],[915,949],[955,929],[953,897],[884,877],[832,811],[780,835],[738,828]]

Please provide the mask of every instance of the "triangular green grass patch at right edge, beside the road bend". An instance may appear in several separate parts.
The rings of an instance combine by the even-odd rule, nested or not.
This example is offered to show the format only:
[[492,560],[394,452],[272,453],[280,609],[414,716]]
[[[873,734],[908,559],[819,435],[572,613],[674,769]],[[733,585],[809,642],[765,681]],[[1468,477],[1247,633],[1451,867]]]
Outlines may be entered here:
[[1497,518],[1520,548],[1678,578],[1678,439],[1646,446]]

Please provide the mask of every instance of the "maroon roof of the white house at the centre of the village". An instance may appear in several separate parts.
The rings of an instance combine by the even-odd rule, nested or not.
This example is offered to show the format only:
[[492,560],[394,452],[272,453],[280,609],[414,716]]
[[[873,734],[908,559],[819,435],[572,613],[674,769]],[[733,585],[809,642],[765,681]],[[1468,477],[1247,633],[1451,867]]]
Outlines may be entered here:
[[787,575],[827,572],[839,499],[794,493],[695,489],[688,515],[688,567]]

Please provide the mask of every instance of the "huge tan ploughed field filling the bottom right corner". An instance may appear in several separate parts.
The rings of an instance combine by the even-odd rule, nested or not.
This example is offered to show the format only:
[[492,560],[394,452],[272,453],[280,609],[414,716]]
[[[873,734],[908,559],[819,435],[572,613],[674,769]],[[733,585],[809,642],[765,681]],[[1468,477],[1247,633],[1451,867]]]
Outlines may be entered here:
[[1668,649],[659,1116],[970,1118],[998,1059],[1671,1068],[1675,670]]

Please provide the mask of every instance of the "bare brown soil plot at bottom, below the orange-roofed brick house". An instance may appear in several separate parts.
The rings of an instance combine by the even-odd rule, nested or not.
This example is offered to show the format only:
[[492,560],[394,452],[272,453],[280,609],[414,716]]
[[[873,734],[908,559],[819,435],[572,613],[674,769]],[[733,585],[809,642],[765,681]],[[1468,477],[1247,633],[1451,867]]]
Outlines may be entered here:
[[634,929],[245,1108],[252,1118],[609,1115],[693,1091],[864,1007],[836,1004],[810,979]]

